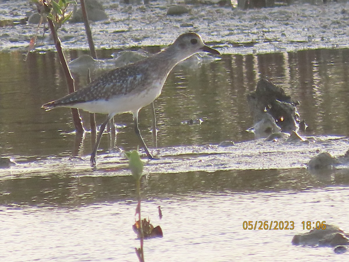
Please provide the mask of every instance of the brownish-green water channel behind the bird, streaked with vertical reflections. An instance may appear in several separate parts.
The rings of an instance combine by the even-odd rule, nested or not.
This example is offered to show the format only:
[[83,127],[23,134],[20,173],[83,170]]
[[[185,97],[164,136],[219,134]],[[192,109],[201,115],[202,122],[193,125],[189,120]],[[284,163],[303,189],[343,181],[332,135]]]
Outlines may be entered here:
[[[81,53],[81,51],[79,51]],[[100,51],[108,57],[113,50]],[[71,51],[71,57],[77,51]],[[253,136],[246,95],[260,77],[285,88],[300,101],[299,113],[309,125],[308,134],[349,135],[348,50],[306,50],[296,53],[224,55],[219,61],[191,69],[177,66],[169,75],[163,93],[155,101],[158,146],[218,144],[223,140],[243,141]],[[45,112],[40,106],[66,93],[66,83],[55,53],[31,53],[28,61],[20,52],[1,53],[0,153],[16,160],[73,155],[73,126],[68,109]],[[92,79],[101,72],[92,72]],[[86,85],[86,75],[75,76],[76,87]],[[82,114],[89,129],[89,116]],[[180,124],[186,119],[203,119],[201,125]],[[97,123],[104,116],[97,115]],[[151,107],[140,111],[140,128],[150,143]],[[129,115],[115,117],[117,146],[138,146]],[[90,134],[87,134],[89,137]],[[107,150],[106,138],[101,148]],[[90,139],[81,154],[91,151]]]

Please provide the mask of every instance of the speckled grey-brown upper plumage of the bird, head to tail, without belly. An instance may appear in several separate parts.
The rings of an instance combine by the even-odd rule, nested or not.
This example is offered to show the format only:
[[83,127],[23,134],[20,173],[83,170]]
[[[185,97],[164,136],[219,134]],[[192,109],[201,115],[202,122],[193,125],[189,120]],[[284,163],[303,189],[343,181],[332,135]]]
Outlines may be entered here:
[[[199,43],[201,44],[199,46],[200,48],[205,46],[197,34],[183,34],[166,50],[134,64],[111,70],[99,76],[86,87],[61,99],[44,104],[42,107],[46,110],[51,110],[55,107],[69,107],[69,105],[90,101],[107,101],[115,97],[132,95],[152,88],[155,82],[157,84],[160,83],[162,88],[168,74],[176,64],[196,52],[205,51],[192,47],[190,44],[192,37],[198,38],[201,41]],[[205,48],[208,47],[205,46]]]

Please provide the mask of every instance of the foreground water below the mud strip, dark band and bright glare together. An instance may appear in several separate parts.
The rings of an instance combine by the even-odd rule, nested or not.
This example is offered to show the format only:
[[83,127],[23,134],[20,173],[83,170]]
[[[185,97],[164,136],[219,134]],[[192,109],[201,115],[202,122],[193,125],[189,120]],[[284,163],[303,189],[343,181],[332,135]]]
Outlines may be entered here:
[[[149,176],[142,212],[164,237],[144,242],[146,261],[345,260],[332,248],[291,245],[302,221],[348,225],[348,175],[344,186],[339,177],[317,177],[319,183],[308,176],[297,169]],[[292,187],[298,179],[303,189]],[[0,258],[136,261],[132,181],[62,175],[2,182],[11,189],[0,198]],[[294,230],[243,229],[244,221],[255,220],[294,221]]]

